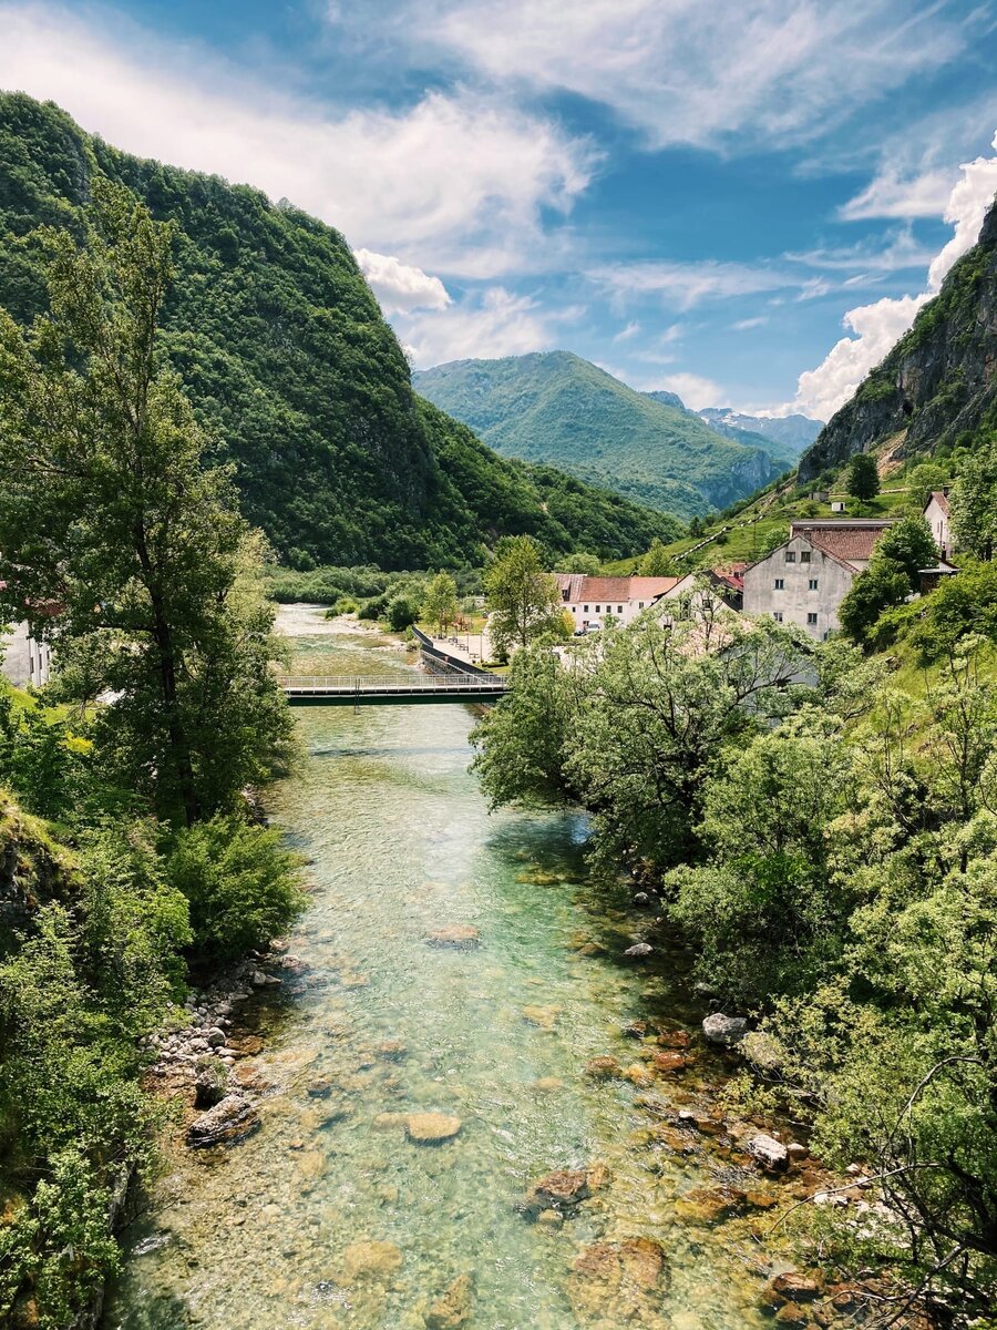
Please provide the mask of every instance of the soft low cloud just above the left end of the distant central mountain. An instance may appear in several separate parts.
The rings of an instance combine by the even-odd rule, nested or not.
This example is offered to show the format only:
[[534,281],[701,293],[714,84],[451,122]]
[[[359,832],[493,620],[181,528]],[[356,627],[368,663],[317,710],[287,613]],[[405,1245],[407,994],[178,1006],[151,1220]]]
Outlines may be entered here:
[[577,310],[549,315],[526,295],[493,286],[439,314],[399,317],[393,322],[416,368],[448,360],[495,359],[549,350],[552,323],[577,317]]

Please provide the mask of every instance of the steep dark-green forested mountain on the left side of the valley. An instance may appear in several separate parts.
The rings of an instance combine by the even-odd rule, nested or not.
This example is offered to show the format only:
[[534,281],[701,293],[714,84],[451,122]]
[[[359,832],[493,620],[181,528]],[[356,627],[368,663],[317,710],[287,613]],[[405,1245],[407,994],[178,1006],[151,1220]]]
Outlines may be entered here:
[[423,402],[338,231],[249,186],[118,152],[51,102],[0,94],[0,305],[15,318],[44,309],[37,227],[80,234],[96,173],[177,226],[162,346],[284,561],[459,565],[520,532],[614,557],[675,533],[674,519],[497,458]]

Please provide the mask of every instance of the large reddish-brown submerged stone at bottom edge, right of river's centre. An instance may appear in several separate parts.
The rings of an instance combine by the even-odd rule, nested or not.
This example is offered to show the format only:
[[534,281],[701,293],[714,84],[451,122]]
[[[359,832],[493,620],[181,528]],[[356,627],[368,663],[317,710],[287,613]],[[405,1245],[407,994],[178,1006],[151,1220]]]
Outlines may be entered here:
[[661,1294],[667,1286],[665,1252],[653,1238],[593,1242],[568,1278],[576,1317],[598,1326],[662,1327]]

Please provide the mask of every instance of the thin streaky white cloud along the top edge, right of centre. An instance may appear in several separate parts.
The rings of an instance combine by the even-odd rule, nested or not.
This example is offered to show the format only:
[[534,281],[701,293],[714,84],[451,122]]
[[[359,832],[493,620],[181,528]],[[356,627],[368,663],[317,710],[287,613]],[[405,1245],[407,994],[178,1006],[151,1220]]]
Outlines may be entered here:
[[408,29],[495,81],[610,105],[654,146],[784,149],[966,49],[933,0],[403,0]]

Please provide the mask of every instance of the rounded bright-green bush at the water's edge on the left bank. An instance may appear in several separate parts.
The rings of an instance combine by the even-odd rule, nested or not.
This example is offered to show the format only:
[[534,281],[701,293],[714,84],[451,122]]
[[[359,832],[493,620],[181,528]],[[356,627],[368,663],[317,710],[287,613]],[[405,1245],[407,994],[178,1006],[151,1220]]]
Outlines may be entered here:
[[193,951],[231,962],[286,931],[304,904],[298,858],[280,834],[239,817],[177,833],[166,874],[190,903]]

